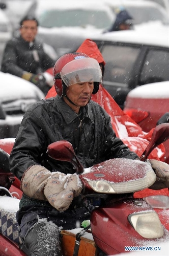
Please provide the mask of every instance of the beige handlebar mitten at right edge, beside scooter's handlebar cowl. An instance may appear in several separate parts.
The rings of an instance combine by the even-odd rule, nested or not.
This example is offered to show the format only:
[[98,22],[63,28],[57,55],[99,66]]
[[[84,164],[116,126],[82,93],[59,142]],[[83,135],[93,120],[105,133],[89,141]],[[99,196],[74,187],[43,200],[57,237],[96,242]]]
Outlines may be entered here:
[[169,188],[169,165],[155,159],[149,159],[156,174],[155,183],[149,187],[151,189]]

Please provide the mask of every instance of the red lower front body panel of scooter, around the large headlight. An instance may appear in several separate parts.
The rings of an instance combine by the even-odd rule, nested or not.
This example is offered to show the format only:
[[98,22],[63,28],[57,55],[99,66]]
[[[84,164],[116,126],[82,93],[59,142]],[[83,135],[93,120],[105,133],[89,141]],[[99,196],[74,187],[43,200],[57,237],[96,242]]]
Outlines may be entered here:
[[[155,242],[157,239],[140,236],[128,221],[129,215],[141,211],[153,211],[153,208],[143,199],[124,199],[94,209],[91,214],[91,229],[97,246],[107,255],[114,255],[125,252],[125,246],[145,246],[150,240]],[[168,234],[168,230],[164,230],[162,242]]]

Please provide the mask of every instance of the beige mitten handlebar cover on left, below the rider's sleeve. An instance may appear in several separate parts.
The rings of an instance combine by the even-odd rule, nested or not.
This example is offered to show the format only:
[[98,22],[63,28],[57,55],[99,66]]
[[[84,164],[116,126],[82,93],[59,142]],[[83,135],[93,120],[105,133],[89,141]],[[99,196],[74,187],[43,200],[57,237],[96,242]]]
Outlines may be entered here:
[[51,173],[41,165],[33,165],[24,172],[21,189],[25,195],[48,201],[57,210],[64,211],[73,198],[80,195],[82,184],[77,174]]

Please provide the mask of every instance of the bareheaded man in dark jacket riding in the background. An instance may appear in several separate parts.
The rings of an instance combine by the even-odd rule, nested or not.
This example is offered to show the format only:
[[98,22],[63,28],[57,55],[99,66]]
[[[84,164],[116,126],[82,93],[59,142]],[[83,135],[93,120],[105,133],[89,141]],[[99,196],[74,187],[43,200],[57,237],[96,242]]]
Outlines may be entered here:
[[54,67],[55,61],[43,49],[35,37],[38,21],[33,16],[25,16],[20,22],[20,36],[7,42],[4,50],[1,71],[22,77],[36,84],[46,95],[52,84],[47,74],[48,68]]

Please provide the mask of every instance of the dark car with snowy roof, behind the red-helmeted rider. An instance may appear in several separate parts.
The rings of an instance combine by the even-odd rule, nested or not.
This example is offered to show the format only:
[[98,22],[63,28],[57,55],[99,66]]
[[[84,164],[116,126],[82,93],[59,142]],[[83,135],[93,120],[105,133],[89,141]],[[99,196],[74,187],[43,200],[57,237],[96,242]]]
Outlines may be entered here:
[[106,62],[103,85],[122,109],[133,88],[169,80],[168,26],[139,25],[134,30],[93,35],[91,39]]

